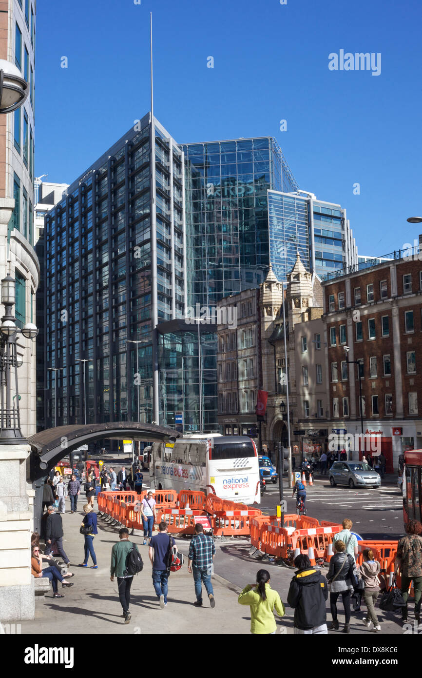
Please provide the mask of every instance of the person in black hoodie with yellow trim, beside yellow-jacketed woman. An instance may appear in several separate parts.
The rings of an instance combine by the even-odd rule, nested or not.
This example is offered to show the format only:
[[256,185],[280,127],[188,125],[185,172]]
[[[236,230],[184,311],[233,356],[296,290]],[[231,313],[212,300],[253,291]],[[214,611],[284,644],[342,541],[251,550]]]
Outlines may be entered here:
[[311,565],[307,555],[295,558],[297,572],[290,582],[287,603],[295,608],[295,634],[328,633],[325,601],[328,598],[326,578]]

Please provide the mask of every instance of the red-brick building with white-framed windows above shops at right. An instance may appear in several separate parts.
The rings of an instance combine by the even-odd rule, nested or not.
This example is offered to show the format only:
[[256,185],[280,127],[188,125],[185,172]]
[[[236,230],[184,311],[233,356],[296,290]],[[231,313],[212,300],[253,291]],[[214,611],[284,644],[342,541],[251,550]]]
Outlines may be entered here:
[[381,437],[392,472],[406,447],[422,447],[422,262],[394,253],[339,271],[322,287],[329,433],[339,429],[339,447],[344,433],[361,433],[358,361],[364,434]]

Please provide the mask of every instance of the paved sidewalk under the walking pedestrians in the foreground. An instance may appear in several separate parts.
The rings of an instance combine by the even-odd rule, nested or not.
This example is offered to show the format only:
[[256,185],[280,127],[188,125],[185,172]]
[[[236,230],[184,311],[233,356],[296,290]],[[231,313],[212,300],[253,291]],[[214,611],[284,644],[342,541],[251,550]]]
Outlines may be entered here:
[[[79,502],[79,509],[83,506],[83,498]],[[69,502],[66,501],[66,509]],[[97,509],[97,505],[96,505]],[[228,561],[232,562],[236,573],[228,574],[238,584],[245,586],[253,582],[257,570],[262,567],[270,572],[272,587],[280,593],[284,603],[287,601],[289,584],[294,574],[293,570],[280,567],[270,562],[255,560],[249,556],[250,544],[246,539],[230,540],[221,542],[216,540],[217,553],[215,557],[216,574],[212,578],[215,608],[209,607],[209,601],[205,590],[203,591],[204,605],[201,608],[194,607],[195,600],[194,582],[187,570],[187,555],[189,542],[187,539],[177,539],[177,546],[186,556],[184,567],[179,572],[171,573],[169,577],[168,605],[161,610],[152,586],[151,565],[148,559],[148,546],[142,546],[143,537],[140,532],[129,537],[138,544],[138,548],[144,560],[144,570],[135,576],[131,589],[131,622],[124,624],[121,617],[121,605],[117,593],[117,580],[110,582],[110,553],[112,544],[119,540],[118,527],[112,527],[98,519],[98,535],[94,539],[94,549],[98,560],[98,570],[89,567],[78,567],[83,561],[83,535],[79,534],[79,527],[83,513],[78,511],[73,515],[70,511],[62,515],[64,525],[64,550],[71,563],[71,572],[75,576],[71,581],[75,584],[70,589],[62,589],[62,599],[54,599],[51,593],[43,600],[36,600],[35,620],[22,622],[22,633],[38,635],[55,634],[58,630],[62,634],[140,634],[140,633],[171,633],[171,634],[249,634],[250,615],[249,607],[238,605],[237,596],[240,588],[228,580],[219,576],[218,572],[224,567],[224,572],[233,572],[227,567]],[[91,564],[91,561],[89,561]],[[326,568],[323,570],[326,574]],[[343,624],[343,615],[339,605],[339,621]],[[374,636],[376,634],[367,631],[362,624],[362,613],[352,614],[352,634]],[[413,605],[410,605],[410,617],[413,618]],[[398,624],[398,617],[379,612],[382,625],[382,633],[388,635],[402,635],[402,629]],[[286,614],[282,619],[276,618],[277,633],[293,634],[293,613],[290,607],[286,607]],[[331,621],[329,614],[329,601],[327,601],[327,620]],[[336,632],[331,632],[330,635]],[[340,634],[339,637],[343,637]]]

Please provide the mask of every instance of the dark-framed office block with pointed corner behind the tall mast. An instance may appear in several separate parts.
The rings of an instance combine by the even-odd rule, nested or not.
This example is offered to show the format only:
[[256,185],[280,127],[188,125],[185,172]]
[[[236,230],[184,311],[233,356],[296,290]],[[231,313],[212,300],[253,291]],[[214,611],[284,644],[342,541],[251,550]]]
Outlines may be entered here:
[[183,152],[149,113],[47,213],[45,426],[159,419],[157,327],[184,317],[184,218]]

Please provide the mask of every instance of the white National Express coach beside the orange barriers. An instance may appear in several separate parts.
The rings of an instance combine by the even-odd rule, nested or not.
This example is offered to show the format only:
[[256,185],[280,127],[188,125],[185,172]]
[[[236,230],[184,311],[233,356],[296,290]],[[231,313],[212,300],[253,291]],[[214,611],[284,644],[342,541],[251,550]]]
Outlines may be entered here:
[[154,443],[150,481],[156,490],[200,490],[240,504],[261,503],[257,449],[246,436],[205,433]]

